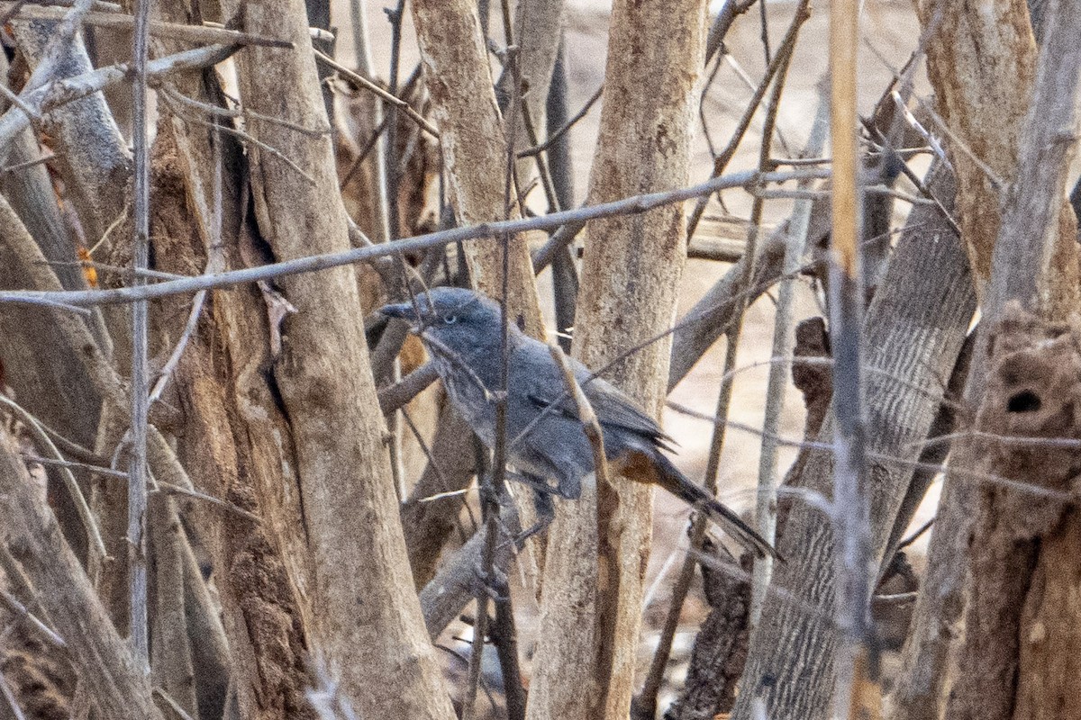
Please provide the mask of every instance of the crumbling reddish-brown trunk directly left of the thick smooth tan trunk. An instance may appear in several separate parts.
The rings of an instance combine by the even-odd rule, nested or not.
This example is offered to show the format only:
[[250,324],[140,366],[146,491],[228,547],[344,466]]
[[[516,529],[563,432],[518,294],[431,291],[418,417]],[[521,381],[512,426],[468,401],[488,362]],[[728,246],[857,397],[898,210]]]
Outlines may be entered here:
[[[213,172],[208,140],[202,127],[173,117],[159,125],[151,241],[161,270],[190,272],[206,262],[212,237],[204,193]],[[223,145],[225,217],[239,218],[240,158],[231,142]],[[254,244],[252,232],[250,222],[238,228],[226,221],[227,264],[244,262],[240,248]],[[303,663],[308,628],[278,534],[279,522],[301,520],[282,497],[281,467],[292,454],[275,439],[288,437],[289,427],[263,370],[271,362],[265,308],[251,287],[213,296],[165,398],[178,410],[169,431],[196,488],[263,518],[257,525],[200,505],[192,516],[205,529],[241,711],[249,718],[303,718],[309,712]],[[168,317],[155,316],[159,337],[171,327]]]

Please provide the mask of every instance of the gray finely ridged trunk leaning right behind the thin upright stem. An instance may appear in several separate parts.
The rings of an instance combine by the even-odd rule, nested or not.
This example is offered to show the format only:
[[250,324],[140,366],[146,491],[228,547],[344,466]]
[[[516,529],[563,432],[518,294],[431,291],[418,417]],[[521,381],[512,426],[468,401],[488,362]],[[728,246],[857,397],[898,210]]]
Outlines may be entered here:
[[[949,188],[937,181],[931,187],[947,203]],[[886,458],[911,461],[918,456],[974,308],[960,243],[936,209],[913,208],[864,330],[870,522],[879,561],[912,474],[911,466]],[[831,437],[830,416],[819,439]],[[829,497],[831,456],[814,453],[800,486]],[[740,720],[751,717],[757,697],[765,701],[774,720],[825,717],[833,691],[837,634],[829,519],[808,503],[796,503],[778,551],[788,562],[777,568],[778,592],[768,597],[762,626],[751,640],[733,716]]]

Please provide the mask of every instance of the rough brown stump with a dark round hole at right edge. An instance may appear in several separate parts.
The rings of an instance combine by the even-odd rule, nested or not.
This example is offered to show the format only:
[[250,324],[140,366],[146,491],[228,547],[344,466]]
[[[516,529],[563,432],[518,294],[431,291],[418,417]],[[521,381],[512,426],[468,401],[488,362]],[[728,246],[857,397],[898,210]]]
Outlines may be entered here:
[[971,598],[950,718],[1070,718],[1081,709],[1066,680],[1077,678],[1081,652],[1078,563],[1069,554],[1081,532],[1068,504],[1081,461],[1072,448],[997,439],[1081,439],[1079,339],[1076,330],[1016,307],[990,338],[976,417],[987,435],[974,441],[984,472],[1020,485],[977,491]]

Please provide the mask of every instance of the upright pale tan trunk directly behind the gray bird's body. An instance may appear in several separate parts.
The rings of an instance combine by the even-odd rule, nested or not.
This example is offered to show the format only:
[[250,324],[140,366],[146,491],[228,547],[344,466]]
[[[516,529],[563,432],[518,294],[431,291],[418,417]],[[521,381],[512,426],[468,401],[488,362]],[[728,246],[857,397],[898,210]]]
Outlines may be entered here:
[[[590,202],[688,181],[705,9],[700,0],[615,3]],[[682,207],[673,206],[593,222],[587,233],[574,350],[584,363],[600,367],[669,327],[686,252],[685,218]],[[608,377],[657,412],[667,391],[669,352],[668,341],[653,343]],[[528,718],[627,717],[652,494],[649,487],[620,485],[615,497],[601,488],[559,505]],[[600,543],[613,551],[606,560],[614,560],[609,566],[602,559],[603,570],[598,497],[604,505],[614,503],[601,508],[609,532]]]

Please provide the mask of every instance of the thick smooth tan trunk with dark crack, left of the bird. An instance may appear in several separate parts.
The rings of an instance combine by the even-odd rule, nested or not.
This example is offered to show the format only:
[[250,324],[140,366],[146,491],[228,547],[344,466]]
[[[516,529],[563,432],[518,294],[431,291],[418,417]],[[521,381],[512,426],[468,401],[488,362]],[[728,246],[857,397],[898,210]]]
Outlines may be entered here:
[[[224,10],[232,16],[240,9],[230,4]],[[249,119],[253,136],[281,150],[308,176],[251,149],[259,241],[279,260],[345,249],[346,215],[304,5],[290,0],[246,5],[241,15],[246,30],[296,44],[292,52],[250,49],[238,58],[245,107],[326,133],[312,137]],[[262,261],[254,246],[248,249],[245,261]],[[267,433],[257,440],[266,454],[252,453],[238,468],[256,478],[265,528],[280,548],[286,587],[299,610],[280,628],[290,631],[292,623],[302,624],[309,652],[339,675],[343,692],[361,715],[450,718],[452,708],[409,574],[353,273],[343,268],[278,285],[297,312],[278,328],[271,320],[257,344],[233,347],[238,379],[245,390],[261,385],[253,397],[237,388],[236,410],[246,416],[248,432]],[[268,347],[276,329],[280,348]],[[252,366],[251,358],[261,355],[267,364]],[[259,420],[256,413],[267,408],[272,411]],[[270,426],[259,427],[268,420],[273,421]],[[239,559],[233,558],[230,571],[239,570]],[[286,587],[278,593],[288,593]],[[298,666],[298,650],[286,652],[292,655],[286,665]],[[251,691],[242,691],[249,693],[241,702],[245,712],[266,699]]]

